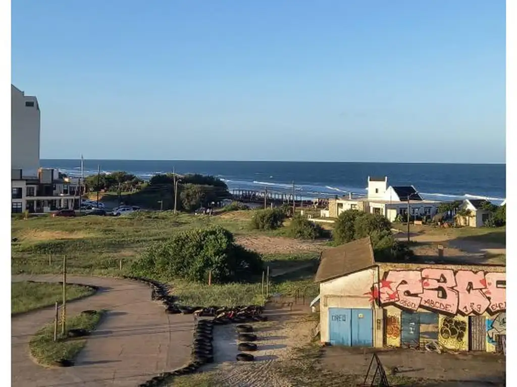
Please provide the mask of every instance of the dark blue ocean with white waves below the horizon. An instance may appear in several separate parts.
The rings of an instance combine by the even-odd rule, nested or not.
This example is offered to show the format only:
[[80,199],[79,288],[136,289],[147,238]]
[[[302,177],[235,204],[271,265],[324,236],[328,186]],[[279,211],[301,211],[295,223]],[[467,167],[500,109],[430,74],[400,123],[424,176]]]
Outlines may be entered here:
[[[43,168],[71,176],[81,174],[80,159],[42,159]],[[230,189],[292,192],[304,199],[334,195],[365,195],[368,176],[388,176],[388,185],[413,185],[425,199],[488,199],[500,204],[506,198],[505,164],[400,164],[229,162],[195,160],[84,160],[84,174],[126,171],[148,180],[157,173],[201,173],[217,176]]]

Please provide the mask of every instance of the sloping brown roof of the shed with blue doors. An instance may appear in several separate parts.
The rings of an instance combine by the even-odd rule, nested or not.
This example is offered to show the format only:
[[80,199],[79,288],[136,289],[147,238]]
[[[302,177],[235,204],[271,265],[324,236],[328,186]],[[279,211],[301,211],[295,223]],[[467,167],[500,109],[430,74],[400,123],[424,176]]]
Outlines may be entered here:
[[375,265],[370,237],[323,250],[314,282],[325,282]]

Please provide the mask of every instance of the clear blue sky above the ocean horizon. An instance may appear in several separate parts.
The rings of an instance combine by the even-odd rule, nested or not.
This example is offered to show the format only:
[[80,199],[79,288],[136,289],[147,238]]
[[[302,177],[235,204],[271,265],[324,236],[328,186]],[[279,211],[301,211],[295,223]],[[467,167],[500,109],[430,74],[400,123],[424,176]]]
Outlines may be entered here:
[[505,162],[503,0],[12,2],[41,157]]

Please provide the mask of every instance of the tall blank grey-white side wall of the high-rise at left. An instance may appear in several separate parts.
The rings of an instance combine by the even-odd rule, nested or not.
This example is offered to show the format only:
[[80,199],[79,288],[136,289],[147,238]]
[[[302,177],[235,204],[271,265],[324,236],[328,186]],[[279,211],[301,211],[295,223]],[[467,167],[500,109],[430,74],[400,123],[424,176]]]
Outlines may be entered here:
[[[34,102],[34,106],[25,106],[25,102]],[[11,85],[11,169],[21,169],[24,177],[37,176],[39,142],[38,101]]]

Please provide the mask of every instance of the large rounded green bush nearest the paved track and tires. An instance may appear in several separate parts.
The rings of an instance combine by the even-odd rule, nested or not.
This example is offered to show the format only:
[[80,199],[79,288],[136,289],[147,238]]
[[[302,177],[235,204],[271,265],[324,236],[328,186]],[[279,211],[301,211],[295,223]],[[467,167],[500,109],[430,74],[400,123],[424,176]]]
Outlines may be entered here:
[[136,276],[189,281],[206,281],[209,270],[214,283],[246,281],[262,271],[262,259],[236,245],[230,231],[211,226],[151,245],[130,268]]

